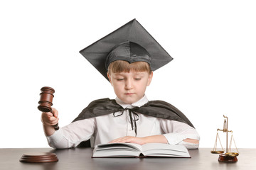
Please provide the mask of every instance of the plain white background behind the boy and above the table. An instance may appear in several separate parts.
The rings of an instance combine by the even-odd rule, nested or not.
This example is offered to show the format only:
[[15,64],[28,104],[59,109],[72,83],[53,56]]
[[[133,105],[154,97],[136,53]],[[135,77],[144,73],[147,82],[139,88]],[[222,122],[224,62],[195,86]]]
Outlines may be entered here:
[[[79,51],[137,21],[174,60],[154,72],[149,100],[179,108],[213,147],[223,115],[238,147],[255,147],[255,1],[1,1],[0,147],[48,147],[38,101],[55,89],[60,126],[112,86]],[[222,138],[225,145],[225,138]]]

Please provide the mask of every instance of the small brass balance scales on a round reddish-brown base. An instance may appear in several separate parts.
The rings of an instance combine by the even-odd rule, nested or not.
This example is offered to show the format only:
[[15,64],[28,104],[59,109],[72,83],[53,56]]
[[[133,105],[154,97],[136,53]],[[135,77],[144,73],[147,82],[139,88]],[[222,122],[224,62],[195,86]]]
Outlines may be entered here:
[[[234,137],[233,137],[233,131],[232,130],[228,130],[228,117],[225,116],[225,115],[223,115],[223,117],[225,118],[224,125],[223,125],[223,130],[220,130],[220,129],[217,130],[215,144],[214,144],[213,150],[210,151],[210,153],[212,153],[212,154],[220,154],[219,158],[218,158],[219,162],[238,162],[238,158],[237,158],[238,155],[239,155],[238,147],[236,147],[236,145],[235,145],[236,152],[231,152],[232,141],[235,144],[235,140],[234,140]],[[219,131],[223,131],[223,132],[226,133],[226,152],[225,152],[225,154],[223,154],[224,153],[224,149],[223,149],[223,146],[221,145],[221,142],[220,142],[220,136],[218,135]],[[228,147],[228,132],[231,133],[229,147]],[[218,142],[218,140],[220,142],[220,146],[221,146],[222,150],[217,150],[217,142]]]

